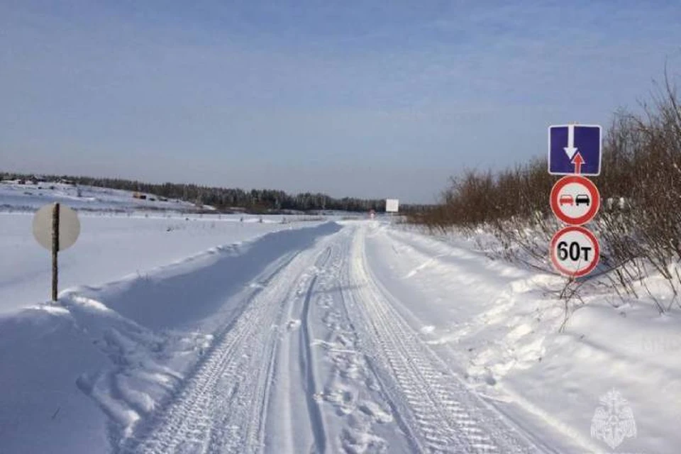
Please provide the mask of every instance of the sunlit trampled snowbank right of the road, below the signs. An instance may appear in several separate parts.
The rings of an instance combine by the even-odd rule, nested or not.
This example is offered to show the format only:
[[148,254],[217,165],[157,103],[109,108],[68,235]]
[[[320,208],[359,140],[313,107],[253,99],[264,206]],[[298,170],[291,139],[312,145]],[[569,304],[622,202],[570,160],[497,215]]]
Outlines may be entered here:
[[[484,233],[435,239],[377,226],[372,238],[372,269],[400,295],[406,319],[520,426],[561,453],[677,452],[678,309],[660,315],[652,299],[622,301],[594,282],[559,332],[563,279],[490,260],[490,250],[479,249],[490,244]],[[663,279],[639,285],[670,298]],[[619,417],[619,433],[604,435],[614,426],[597,414]]]

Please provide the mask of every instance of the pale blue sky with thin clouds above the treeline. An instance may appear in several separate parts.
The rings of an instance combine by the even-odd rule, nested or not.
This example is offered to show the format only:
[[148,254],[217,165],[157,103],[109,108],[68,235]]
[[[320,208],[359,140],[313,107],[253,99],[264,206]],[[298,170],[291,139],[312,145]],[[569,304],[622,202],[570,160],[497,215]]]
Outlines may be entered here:
[[431,202],[636,109],[681,74],[679,24],[678,1],[0,0],[0,170]]

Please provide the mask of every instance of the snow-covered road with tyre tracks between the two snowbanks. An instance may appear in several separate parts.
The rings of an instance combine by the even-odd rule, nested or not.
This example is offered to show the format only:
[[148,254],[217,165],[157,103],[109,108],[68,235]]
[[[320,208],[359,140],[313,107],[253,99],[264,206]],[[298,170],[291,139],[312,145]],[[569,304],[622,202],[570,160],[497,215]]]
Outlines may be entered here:
[[367,267],[366,233],[348,224],[255,279],[243,313],[123,451],[546,452],[402,319]]

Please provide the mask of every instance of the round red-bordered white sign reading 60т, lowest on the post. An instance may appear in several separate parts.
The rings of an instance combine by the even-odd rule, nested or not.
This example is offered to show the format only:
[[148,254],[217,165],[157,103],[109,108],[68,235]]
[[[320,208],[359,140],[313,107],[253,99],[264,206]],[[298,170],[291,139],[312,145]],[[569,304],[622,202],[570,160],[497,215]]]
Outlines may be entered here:
[[593,233],[584,227],[560,229],[551,239],[551,262],[561,275],[582,277],[598,265],[600,248]]

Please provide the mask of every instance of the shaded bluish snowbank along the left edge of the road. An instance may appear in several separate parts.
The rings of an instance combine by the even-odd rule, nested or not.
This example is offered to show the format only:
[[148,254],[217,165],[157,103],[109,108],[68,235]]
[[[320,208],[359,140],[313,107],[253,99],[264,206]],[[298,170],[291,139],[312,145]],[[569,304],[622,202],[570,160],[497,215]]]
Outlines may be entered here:
[[109,451],[245,309],[245,283],[337,230],[306,223],[0,316],[0,450]]

